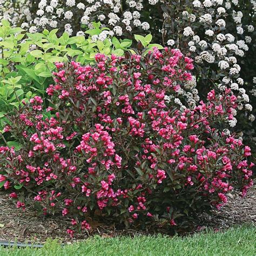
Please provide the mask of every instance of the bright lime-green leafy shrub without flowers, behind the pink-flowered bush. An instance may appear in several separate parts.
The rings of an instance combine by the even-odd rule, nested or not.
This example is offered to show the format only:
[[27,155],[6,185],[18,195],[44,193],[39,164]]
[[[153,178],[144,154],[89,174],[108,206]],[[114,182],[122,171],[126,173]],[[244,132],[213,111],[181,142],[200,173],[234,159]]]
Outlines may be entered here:
[[100,24],[88,30],[89,38],[70,37],[63,33],[57,37],[57,29],[43,33],[28,33],[21,28],[11,28],[8,21],[0,26],[0,130],[5,120],[4,114],[18,107],[23,99],[35,95],[43,98],[45,90],[53,82],[52,71],[55,62],[76,59],[81,64],[94,61],[97,52],[107,56],[123,56],[130,48],[129,39],[106,38],[104,42],[92,42],[91,36],[102,32]]

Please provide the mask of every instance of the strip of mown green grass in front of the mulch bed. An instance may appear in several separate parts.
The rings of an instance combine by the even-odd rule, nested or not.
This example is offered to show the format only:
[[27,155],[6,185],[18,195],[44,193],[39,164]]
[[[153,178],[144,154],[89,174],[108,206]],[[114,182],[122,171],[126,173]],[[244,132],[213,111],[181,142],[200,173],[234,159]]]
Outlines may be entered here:
[[3,248],[0,255],[256,255],[256,227],[242,226],[225,232],[207,231],[188,237],[100,238],[61,247],[48,241],[43,248]]

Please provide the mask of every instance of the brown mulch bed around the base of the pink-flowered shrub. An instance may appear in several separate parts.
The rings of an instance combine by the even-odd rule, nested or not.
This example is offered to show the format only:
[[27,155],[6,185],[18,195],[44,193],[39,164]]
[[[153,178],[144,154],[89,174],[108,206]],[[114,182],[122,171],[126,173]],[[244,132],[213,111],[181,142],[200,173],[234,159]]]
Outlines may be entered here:
[[[215,230],[223,230],[234,225],[256,224],[256,187],[248,191],[247,197],[242,199],[238,196],[229,199],[221,211],[214,211],[210,215],[204,215],[199,221],[199,230],[212,227]],[[37,217],[34,211],[26,209],[22,212],[16,208],[8,198],[8,194],[0,192],[0,241],[26,241],[44,242],[48,238],[59,239],[63,242],[85,239],[89,234],[83,233],[75,239],[66,234],[66,227],[70,221],[62,217]],[[105,226],[93,223],[93,234],[102,237],[113,237],[114,235],[130,234],[133,230],[116,230],[113,226]]]

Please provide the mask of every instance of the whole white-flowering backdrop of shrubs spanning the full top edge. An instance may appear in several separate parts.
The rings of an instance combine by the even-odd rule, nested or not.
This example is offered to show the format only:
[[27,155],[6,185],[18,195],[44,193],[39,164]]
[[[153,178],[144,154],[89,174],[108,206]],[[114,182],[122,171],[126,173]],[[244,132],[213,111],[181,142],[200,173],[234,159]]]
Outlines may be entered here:
[[[104,41],[113,35],[129,38],[131,31],[140,35],[151,31],[155,42],[183,49],[196,60],[194,74],[203,99],[211,89],[240,90],[239,110],[243,111],[238,113],[236,129],[250,134],[249,140],[251,135],[255,139],[255,111],[251,112],[256,91],[251,72],[254,55],[248,54],[255,48],[254,0],[20,0],[2,5],[2,17],[31,33],[58,24],[61,32],[70,35],[84,35],[90,28],[93,41]],[[110,30],[95,33],[93,21]],[[234,119],[231,126],[236,124]]]

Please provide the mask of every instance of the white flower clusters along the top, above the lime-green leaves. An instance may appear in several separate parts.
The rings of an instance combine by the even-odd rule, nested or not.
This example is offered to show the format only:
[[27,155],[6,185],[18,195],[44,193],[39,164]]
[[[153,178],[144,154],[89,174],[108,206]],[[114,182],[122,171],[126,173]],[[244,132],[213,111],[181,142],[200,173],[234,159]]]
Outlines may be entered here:
[[[21,3],[22,2],[22,3]],[[144,5],[142,0],[38,0],[33,3],[36,16],[30,14],[30,1],[20,0],[22,9],[17,11],[15,19],[25,22],[22,27],[28,28],[31,33],[44,28],[65,28],[70,35],[76,31],[82,35],[82,31],[91,28],[92,22],[100,21],[102,26],[110,28],[116,36],[122,36],[124,32],[131,32],[133,28],[147,31],[150,29],[148,22],[140,21]],[[155,5],[158,0],[146,0],[147,4]],[[35,6],[34,6],[35,5]],[[4,18],[10,20],[10,12],[15,12],[12,4],[6,6]],[[0,11],[1,12],[1,11]],[[19,15],[18,15],[19,13]],[[1,16],[1,15],[0,15]],[[13,18],[14,19],[14,18]],[[16,23],[12,20],[12,23]]]

